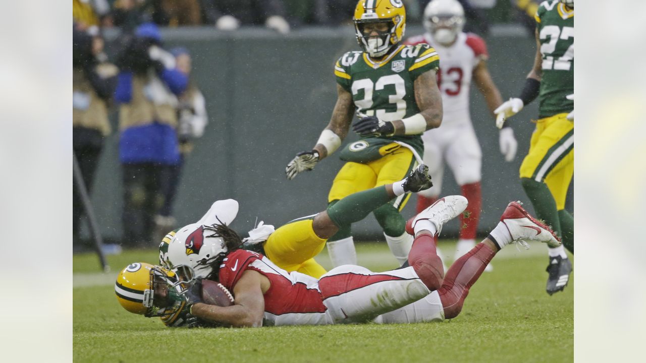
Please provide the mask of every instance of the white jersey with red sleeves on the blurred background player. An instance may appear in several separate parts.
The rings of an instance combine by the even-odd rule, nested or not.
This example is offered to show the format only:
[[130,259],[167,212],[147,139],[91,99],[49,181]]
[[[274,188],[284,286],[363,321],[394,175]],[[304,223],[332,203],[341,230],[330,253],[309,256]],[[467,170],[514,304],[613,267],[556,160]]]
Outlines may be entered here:
[[455,43],[443,47],[433,41],[430,34],[408,39],[406,44],[427,43],[432,45],[440,56],[437,72],[437,85],[442,94],[444,117],[439,129],[463,125],[471,122],[469,94],[474,67],[488,58],[485,41],[472,33],[460,33]]

